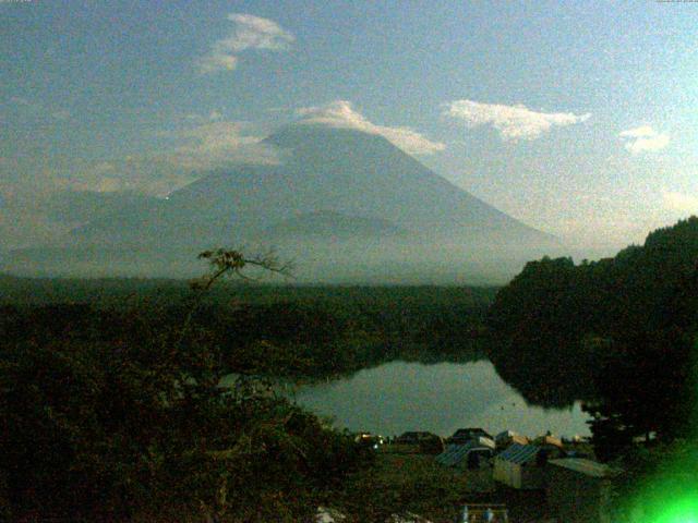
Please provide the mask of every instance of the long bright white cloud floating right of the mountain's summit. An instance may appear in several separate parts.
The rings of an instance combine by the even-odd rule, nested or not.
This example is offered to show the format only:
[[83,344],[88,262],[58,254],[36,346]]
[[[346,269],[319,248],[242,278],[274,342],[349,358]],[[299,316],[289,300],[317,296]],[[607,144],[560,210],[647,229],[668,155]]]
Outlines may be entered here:
[[504,106],[472,100],[446,104],[444,114],[465,121],[468,127],[492,125],[505,141],[534,139],[553,126],[573,125],[591,117],[590,113],[537,112],[522,105]]

